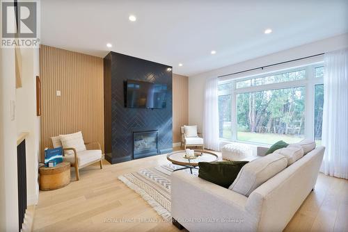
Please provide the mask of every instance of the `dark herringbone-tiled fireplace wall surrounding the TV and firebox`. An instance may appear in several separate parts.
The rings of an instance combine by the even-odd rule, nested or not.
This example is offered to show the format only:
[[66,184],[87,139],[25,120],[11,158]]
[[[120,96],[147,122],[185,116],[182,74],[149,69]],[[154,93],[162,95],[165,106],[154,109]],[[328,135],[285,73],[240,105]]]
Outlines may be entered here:
[[[164,109],[126,108],[127,79],[166,84]],[[110,52],[104,58],[105,158],[110,163],[132,160],[133,132],[159,131],[159,152],[172,150],[172,67]]]

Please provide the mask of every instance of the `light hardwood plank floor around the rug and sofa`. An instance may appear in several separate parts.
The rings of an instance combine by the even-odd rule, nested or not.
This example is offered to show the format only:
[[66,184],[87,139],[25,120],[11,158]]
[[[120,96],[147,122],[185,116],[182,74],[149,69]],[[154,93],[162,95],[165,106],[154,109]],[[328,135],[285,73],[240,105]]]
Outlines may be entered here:
[[[40,191],[33,230],[178,231],[171,223],[162,222],[139,194],[117,179],[121,174],[167,162],[165,155],[116,165],[104,160],[102,170],[97,164],[81,169],[80,181],[74,181],[72,170],[72,182],[65,188]],[[347,215],[348,181],[319,174],[314,192],[285,231],[348,231]]]

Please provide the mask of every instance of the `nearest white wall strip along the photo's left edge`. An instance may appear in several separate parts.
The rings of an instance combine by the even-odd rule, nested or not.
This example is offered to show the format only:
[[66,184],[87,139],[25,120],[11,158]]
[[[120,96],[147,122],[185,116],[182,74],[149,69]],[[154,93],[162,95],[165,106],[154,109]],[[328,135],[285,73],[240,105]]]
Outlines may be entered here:
[[0,53],[0,231],[18,231],[17,131],[10,117],[16,99],[15,50]]

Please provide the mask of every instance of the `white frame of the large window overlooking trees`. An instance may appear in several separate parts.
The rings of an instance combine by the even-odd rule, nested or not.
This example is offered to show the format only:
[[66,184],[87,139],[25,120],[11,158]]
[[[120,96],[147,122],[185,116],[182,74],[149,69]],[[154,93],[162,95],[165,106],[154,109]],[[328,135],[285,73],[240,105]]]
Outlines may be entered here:
[[[315,77],[315,68],[323,67],[324,63],[322,61],[313,63],[301,67],[293,67],[288,69],[281,69],[274,72],[268,72],[263,74],[255,74],[251,76],[243,76],[240,78],[228,78],[223,81],[219,81],[219,85],[231,83],[232,88],[230,90],[219,91],[219,96],[231,95],[231,133],[232,139],[228,140],[226,138],[219,138],[221,142],[243,142],[247,144],[257,144],[263,146],[269,146],[269,144],[264,144],[261,142],[248,142],[237,140],[237,94],[248,93],[248,92],[260,92],[264,90],[278,90],[283,88],[294,88],[294,87],[304,87],[306,92],[305,97],[305,125],[304,125],[304,138],[312,138],[314,140],[314,122],[315,122],[315,85],[323,84],[323,78]],[[262,78],[264,76],[283,74],[286,72],[296,72],[306,70],[305,78],[295,81],[284,81],[280,83],[270,83],[265,85],[255,85],[251,87],[236,88],[237,81],[246,81],[251,78]]]

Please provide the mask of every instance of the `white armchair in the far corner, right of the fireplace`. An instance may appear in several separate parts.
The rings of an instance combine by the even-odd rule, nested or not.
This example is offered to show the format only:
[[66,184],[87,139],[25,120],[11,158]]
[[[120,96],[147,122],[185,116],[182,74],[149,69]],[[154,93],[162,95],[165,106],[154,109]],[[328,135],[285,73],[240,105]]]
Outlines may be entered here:
[[197,132],[197,126],[181,126],[181,147],[184,145],[184,149],[187,147],[202,147],[204,151],[204,140],[202,133]]

